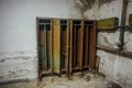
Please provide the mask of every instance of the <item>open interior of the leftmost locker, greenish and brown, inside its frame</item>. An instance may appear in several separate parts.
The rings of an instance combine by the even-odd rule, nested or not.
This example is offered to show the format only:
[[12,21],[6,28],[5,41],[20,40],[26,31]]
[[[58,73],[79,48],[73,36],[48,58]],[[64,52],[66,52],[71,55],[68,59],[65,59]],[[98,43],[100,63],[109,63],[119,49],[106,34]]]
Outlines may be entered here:
[[[46,22],[47,21],[47,22]],[[51,20],[40,20],[40,63],[41,72],[50,69],[51,52]]]

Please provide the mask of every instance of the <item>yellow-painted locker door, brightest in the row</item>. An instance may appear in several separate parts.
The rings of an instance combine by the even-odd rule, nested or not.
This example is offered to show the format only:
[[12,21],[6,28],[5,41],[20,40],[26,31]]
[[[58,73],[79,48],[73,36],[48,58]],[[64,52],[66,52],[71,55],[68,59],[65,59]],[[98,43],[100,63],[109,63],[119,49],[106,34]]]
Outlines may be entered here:
[[53,26],[53,69],[54,73],[61,74],[61,21],[58,19],[54,20]]

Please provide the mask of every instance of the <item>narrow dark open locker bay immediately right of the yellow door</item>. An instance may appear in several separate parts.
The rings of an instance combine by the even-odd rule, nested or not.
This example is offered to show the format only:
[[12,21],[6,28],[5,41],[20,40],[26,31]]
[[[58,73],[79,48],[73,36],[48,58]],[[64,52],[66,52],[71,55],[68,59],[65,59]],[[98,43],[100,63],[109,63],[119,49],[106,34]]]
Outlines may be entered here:
[[69,43],[68,20],[61,20],[61,69],[68,75],[68,43]]

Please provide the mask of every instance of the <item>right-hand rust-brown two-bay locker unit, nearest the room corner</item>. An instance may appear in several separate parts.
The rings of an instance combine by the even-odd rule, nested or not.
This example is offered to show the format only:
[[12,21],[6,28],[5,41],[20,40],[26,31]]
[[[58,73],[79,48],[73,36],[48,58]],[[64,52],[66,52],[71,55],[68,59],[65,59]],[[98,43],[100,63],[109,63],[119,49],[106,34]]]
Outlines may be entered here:
[[91,69],[96,62],[95,21],[70,20],[69,72]]

